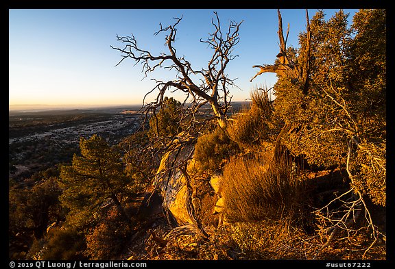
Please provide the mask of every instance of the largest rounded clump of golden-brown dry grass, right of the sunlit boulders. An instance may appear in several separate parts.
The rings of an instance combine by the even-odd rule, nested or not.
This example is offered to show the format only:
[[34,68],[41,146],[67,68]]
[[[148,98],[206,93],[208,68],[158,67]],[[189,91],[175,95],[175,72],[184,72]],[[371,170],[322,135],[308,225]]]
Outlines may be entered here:
[[302,217],[306,198],[295,165],[269,159],[231,159],[224,168],[225,216],[232,221]]

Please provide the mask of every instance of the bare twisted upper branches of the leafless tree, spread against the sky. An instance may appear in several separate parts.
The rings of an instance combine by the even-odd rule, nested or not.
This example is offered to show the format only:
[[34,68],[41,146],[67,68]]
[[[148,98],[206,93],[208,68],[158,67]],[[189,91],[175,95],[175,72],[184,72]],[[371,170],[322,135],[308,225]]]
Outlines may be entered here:
[[[202,103],[208,103],[211,105],[212,114],[217,118],[219,125],[222,127],[226,125],[226,112],[231,100],[228,87],[235,86],[235,84],[234,80],[228,78],[225,70],[230,60],[237,57],[237,55],[232,55],[232,51],[239,43],[239,27],[242,22],[235,23],[231,21],[228,31],[223,33],[219,23],[219,16],[217,12],[214,12],[214,14],[215,18],[213,18],[211,23],[215,31],[206,40],[200,40],[213,49],[213,56],[208,61],[207,67],[201,70],[193,68],[191,63],[185,60],[184,56],[178,57],[176,53],[174,42],[176,41],[177,25],[182,21],[182,17],[174,18],[176,23],[167,27],[163,27],[160,24],[160,29],[155,33],[155,36],[161,33],[166,34],[167,53],[153,55],[150,51],[141,49],[133,35],[117,36],[119,42],[125,43],[123,48],[110,46],[112,49],[121,52],[121,60],[117,65],[126,58],[130,58],[134,60],[135,64],[142,64],[142,72],[145,74],[145,77],[157,68],[175,70],[178,73],[178,77],[170,81],[156,80],[156,86],[145,95],[143,100],[146,114],[154,112],[160,107],[167,92],[180,91],[185,94],[185,99],[182,103],[186,104],[189,99],[192,99],[191,105],[185,107],[183,113],[191,117],[183,116],[184,119],[195,119],[194,114],[202,106]],[[200,78],[193,79],[191,75],[197,75]],[[158,92],[156,99],[151,103],[145,104],[146,97],[154,92]]]

